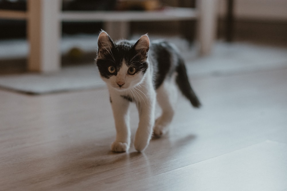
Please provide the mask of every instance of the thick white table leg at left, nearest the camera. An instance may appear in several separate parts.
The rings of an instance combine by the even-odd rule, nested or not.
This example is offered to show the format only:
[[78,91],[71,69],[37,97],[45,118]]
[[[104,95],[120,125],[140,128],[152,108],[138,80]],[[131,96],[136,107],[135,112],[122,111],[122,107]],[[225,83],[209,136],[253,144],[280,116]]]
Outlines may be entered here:
[[27,7],[30,43],[28,70],[35,72],[60,70],[61,1],[28,0]]

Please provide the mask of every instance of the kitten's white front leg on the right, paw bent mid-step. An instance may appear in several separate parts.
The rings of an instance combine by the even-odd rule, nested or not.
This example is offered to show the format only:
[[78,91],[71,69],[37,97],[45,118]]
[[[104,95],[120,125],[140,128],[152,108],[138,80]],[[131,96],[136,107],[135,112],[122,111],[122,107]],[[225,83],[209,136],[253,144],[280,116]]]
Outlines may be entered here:
[[143,151],[148,146],[151,136],[152,129],[154,126],[154,115],[156,105],[156,93],[150,92],[149,96],[144,101],[144,104],[138,105],[139,110],[139,126],[135,134],[134,146],[137,151]]

